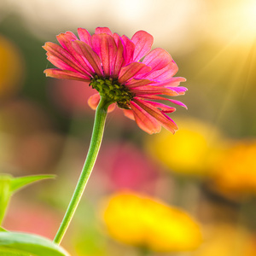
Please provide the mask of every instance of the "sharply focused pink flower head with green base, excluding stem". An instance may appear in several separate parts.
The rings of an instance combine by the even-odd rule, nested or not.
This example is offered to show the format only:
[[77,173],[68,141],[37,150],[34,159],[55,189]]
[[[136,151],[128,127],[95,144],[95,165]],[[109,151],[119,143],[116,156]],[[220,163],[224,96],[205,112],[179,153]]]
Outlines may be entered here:
[[[44,71],[56,79],[74,79],[90,83],[98,92],[90,96],[91,108],[96,108],[100,97],[122,108],[125,116],[134,119],[149,134],[161,126],[174,133],[177,125],[166,114],[175,111],[159,100],[186,108],[182,102],[166,96],[183,95],[187,90],[178,85],[184,78],[173,77],[177,65],[166,50],[151,50],[153,37],[148,32],[136,32],[131,39],[112,33],[108,27],[97,27],[90,35],[84,28],[61,33],[61,44],[46,43],[48,60],[58,68]],[[108,108],[109,109],[109,108]]]

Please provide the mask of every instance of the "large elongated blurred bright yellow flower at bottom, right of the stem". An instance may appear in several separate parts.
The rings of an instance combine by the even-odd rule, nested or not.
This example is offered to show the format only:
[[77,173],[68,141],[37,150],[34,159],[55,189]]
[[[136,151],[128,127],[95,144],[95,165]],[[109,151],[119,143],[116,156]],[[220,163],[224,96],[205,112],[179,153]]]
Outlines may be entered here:
[[202,240],[199,225],[186,212],[129,192],[108,199],[103,219],[113,239],[156,252],[194,250]]

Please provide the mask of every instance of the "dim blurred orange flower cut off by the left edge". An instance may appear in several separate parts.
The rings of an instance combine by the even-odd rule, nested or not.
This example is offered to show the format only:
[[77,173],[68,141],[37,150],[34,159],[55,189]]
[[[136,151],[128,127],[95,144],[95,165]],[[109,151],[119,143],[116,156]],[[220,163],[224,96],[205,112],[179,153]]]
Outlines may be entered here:
[[24,63],[20,51],[0,35],[0,98],[18,90],[23,79]]

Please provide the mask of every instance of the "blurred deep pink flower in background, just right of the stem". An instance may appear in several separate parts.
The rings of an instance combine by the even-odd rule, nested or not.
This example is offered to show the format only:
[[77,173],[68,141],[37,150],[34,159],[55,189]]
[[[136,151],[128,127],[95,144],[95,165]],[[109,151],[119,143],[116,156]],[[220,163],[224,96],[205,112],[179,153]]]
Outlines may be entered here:
[[102,170],[101,177],[105,177],[112,191],[131,189],[154,194],[158,189],[159,166],[131,143],[106,145],[96,166]]

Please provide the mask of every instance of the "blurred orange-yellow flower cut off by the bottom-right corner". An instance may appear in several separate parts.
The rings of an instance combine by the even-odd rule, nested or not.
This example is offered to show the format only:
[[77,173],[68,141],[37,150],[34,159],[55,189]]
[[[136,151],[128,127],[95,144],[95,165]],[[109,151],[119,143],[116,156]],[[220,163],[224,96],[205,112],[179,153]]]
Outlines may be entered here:
[[255,256],[255,237],[230,224],[207,227],[206,241],[192,256]]

